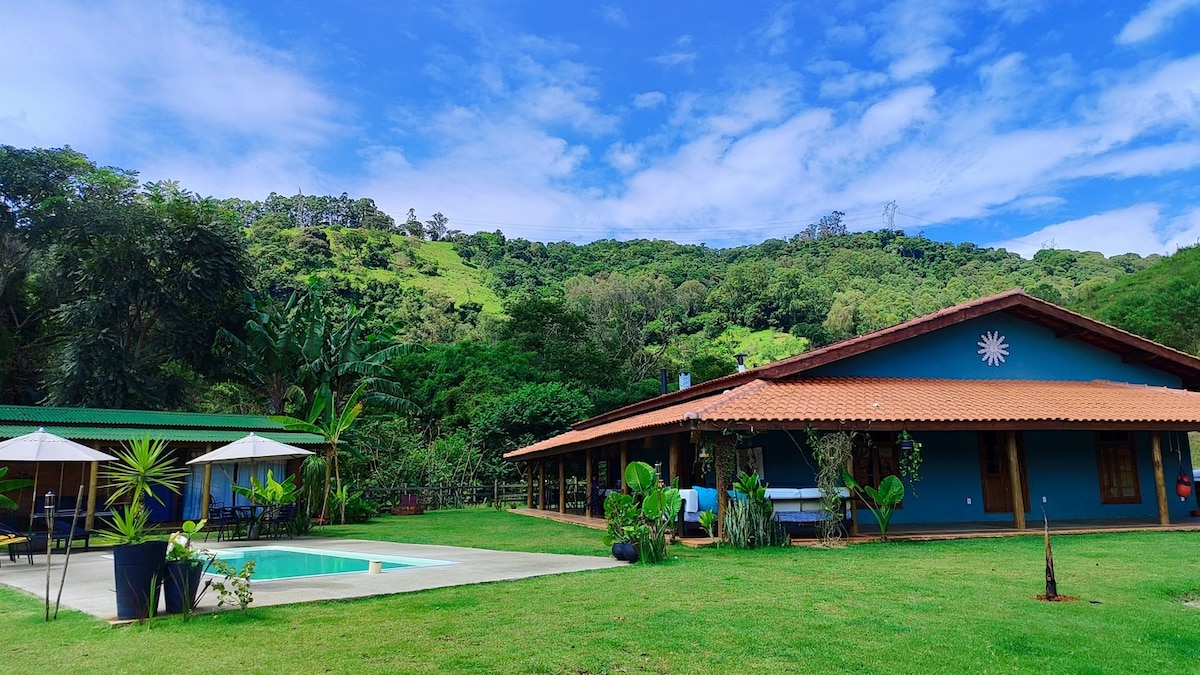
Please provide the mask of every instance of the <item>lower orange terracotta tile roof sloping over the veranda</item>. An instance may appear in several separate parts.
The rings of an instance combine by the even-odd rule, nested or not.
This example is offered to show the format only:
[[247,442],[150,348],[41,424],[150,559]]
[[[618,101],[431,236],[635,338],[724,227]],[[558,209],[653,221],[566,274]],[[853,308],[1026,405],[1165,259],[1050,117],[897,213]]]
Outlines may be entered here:
[[[1200,393],[1118,382],[808,377],[746,384],[628,418],[572,429],[508,453],[528,459],[690,429],[1200,428]],[[650,431],[653,430],[653,432]]]

